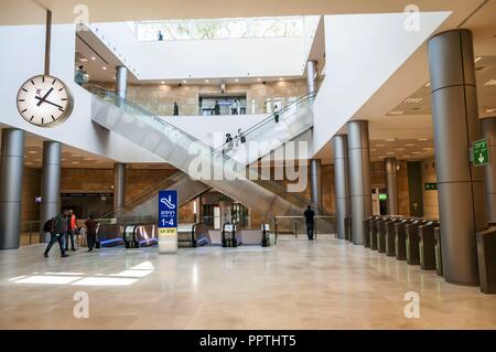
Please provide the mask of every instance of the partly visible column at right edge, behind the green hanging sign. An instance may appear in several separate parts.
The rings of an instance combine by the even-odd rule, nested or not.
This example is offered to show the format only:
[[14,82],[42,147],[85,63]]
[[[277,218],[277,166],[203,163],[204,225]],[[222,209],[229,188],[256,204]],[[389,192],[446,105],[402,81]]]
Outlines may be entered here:
[[489,141],[490,163],[484,168],[486,175],[486,217],[487,222],[496,223],[496,117],[481,120],[484,138]]

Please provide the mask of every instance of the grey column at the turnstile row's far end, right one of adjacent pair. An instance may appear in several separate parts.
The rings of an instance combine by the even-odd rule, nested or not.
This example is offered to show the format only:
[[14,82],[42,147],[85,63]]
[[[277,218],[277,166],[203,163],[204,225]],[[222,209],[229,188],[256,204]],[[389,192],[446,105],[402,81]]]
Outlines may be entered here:
[[368,121],[349,121],[348,139],[352,236],[355,245],[363,245],[366,231],[364,220],[371,215]]

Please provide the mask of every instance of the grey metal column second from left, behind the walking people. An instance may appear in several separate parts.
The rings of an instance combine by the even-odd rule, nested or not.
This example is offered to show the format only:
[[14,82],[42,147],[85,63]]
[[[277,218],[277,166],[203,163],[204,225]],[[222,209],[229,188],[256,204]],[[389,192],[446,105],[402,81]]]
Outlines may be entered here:
[[[62,145],[60,142],[43,142],[42,203],[40,211],[42,225],[61,212],[61,158]],[[40,228],[42,242],[45,241],[44,237],[43,228]]]

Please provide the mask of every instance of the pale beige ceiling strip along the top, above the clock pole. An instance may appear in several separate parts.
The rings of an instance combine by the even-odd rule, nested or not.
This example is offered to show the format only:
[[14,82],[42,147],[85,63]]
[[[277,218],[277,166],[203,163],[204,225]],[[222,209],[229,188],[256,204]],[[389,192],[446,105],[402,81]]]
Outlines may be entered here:
[[[466,12],[483,0],[417,0],[421,11]],[[84,4],[90,22],[403,12],[411,0],[18,0],[2,1],[0,24],[72,23]],[[77,12],[76,12],[77,13]],[[459,23],[457,23],[459,24]]]

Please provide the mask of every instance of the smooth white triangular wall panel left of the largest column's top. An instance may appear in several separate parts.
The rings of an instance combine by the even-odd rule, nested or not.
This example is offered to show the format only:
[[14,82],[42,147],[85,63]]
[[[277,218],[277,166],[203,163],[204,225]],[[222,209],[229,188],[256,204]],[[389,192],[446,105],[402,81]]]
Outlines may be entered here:
[[325,17],[326,78],[314,104],[314,150],[364,106],[450,12],[419,14],[406,29],[408,14]]

